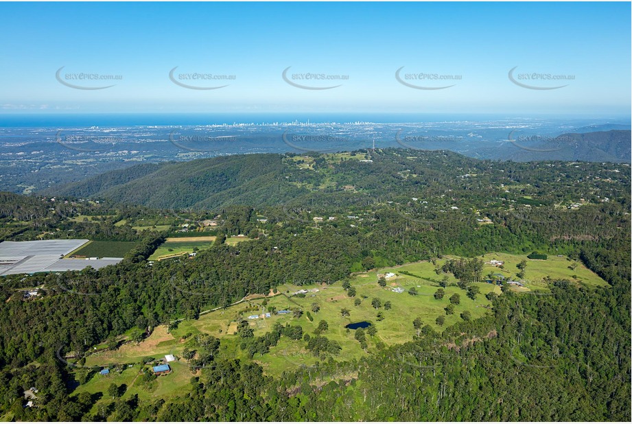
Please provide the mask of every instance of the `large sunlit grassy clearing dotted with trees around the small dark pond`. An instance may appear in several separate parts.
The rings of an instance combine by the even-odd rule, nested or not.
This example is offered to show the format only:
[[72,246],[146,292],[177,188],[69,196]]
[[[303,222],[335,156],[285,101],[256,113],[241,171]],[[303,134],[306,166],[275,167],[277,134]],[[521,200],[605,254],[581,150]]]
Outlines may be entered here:
[[[521,255],[503,253],[484,255],[482,259],[485,261],[497,259],[505,263],[504,270],[493,266],[485,266],[483,273],[498,272],[506,276],[515,276],[515,273],[518,271],[515,266],[525,258]],[[436,261],[436,264],[441,266],[448,259],[450,258],[440,259]],[[527,259],[527,263],[526,287],[519,289],[521,292],[547,290],[546,285],[543,283],[543,278],[546,276],[567,278],[577,283],[581,281],[581,283],[589,287],[605,285],[605,281],[581,265],[576,266],[575,270],[570,270],[568,266],[570,266],[571,262],[567,261],[565,257],[549,257],[546,261],[530,261]],[[92,355],[86,361],[86,365],[104,366],[107,364],[137,363],[143,357],[150,356],[159,359],[169,353],[177,356],[187,345],[187,340],[183,338],[187,333],[192,335],[196,333],[214,335],[222,340],[220,348],[222,357],[238,357],[246,360],[246,355],[239,349],[239,337],[234,334],[237,322],[250,315],[261,314],[266,310],[266,307],[274,307],[277,311],[300,307],[305,314],[301,318],[294,318],[292,314],[272,314],[270,318],[248,320],[250,327],[255,331],[255,335],[264,335],[272,329],[275,322],[280,322],[283,325],[288,323],[301,325],[305,333],[314,335],[318,322],[326,320],[329,324],[329,329],[323,335],[331,340],[336,340],[342,346],[342,351],[336,358],[337,360],[350,360],[351,358],[359,358],[364,355],[360,344],[353,337],[354,331],[347,331],[345,328],[351,322],[368,321],[375,325],[377,334],[375,336],[367,335],[368,351],[374,351],[378,342],[390,345],[412,340],[415,333],[412,321],[415,318],[421,318],[424,325],[430,325],[436,331],[442,331],[442,329],[460,322],[462,320],[460,314],[463,311],[469,311],[471,319],[491,314],[489,309],[491,304],[485,298],[485,294],[491,291],[500,294],[499,286],[488,283],[475,283],[480,288],[480,294],[476,296],[475,300],[472,300],[465,295],[464,290],[456,287],[456,285],[448,285],[445,289],[445,296],[438,300],[433,296],[438,289],[438,284],[432,280],[441,280],[443,275],[437,275],[434,272],[434,267],[428,261],[421,261],[398,267],[381,268],[371,272],[353,274],[351,276],[351,285],[356,290],[356,296],[353,298],[347,295],[340,282],[332,285],[306,286],[284,284],[277,287],[278,293],[274,296],[271,293],[267,297],[251,298],[226,309],[202,314],[198,320],[183,320],[179,323],[178,328],[171,333],[167,333],[164,326],[157,327],[150,338],[140,344],[124,344],[117,351]],[[388,272],[393,272],[395,276],[387,279],[386,287],[380,287],[377,283],[378,277]],[[403,272],[408,272],[412,275],[403,274]],[[576,279],[572,278],[573,274],[577,276]],[[456,283],[456,279],[454,279],[452,274],[449,274],[448,281],[449,284]],[[392,289],[395,287],[402,287],[405,292],[393,292]],[[408,289],[411,287],[414,287],[419,292],[417,296],[408,294]],[[318,291],[309,292],[305,297],[292,296],[294,292],[301,289]],[[449,305],[449,297],[455,293],[460,295],[460,304],[454,305],[454,314],[446,315],[444,308]],[[361,301],[358,306],[354,304],[356,298]],[[373,298],[379,298],[382,305],[386,301],[390,301],[392,304],[391,309],[386,310],[384,306],[375,309],[371,305]],[[264,302],[267,305],[263,305]],[[318,312],[312,311],[313,303],[317,303],[320,307]],[[351,311],[350,316],[343,317],[340,314],[342,308],[349,309]],[[307,318],[307,311],[312,315],[313,321]],[[382,312],[384,320],[377,321],[378,312]],[[438,316],[445,318],[443,326],[436,324],[435,320]],[[305,349],[305,342],[281,338],[277,346],[270,348],[269,353],[265,355],[257,354],[254,360],[264,368],[268,375],[279,376],[284,370],[297,368],[301,365],[309,366],[320,359],[314,357],[312,353]],[[191,377],[191,373],[184,362],[181,362],[181,365],[183,368],[178,372],[186,374],[188,379]],[[175,367],[174,370],[176,370]],[[125,370],[123,375],[126,375],[126,372],[128,370]],[[121,378],[123,378],[123,375],[121,375]],[[95,377],[97,380],[102,378],[101,376]],[[162,378],[165,378],[165,383],[171,381],[169,379],[173,379],[174,388],[178,387],[176,383],[178,380],[173,375]]]

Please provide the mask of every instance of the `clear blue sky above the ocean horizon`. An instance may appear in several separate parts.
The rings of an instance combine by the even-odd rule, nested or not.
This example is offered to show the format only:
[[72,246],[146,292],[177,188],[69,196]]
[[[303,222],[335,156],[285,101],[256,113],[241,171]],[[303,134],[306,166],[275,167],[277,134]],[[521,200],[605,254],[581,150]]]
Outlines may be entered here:
[[[629,115],[630,3],[0,3],[0,113]],[[73,89],[56,80],[102,90]],[[234,75],[180,80],[169,71]],[[292,80],[295,73],[348,80]],[[398,82],[407,74],[453,75]],[[515,79],[570,75],[564,82]],[[121,75],[115,82],[67,73]],[[177,78],[177,76],[176,76]],[[526,77],[524,77],[526,78]]]

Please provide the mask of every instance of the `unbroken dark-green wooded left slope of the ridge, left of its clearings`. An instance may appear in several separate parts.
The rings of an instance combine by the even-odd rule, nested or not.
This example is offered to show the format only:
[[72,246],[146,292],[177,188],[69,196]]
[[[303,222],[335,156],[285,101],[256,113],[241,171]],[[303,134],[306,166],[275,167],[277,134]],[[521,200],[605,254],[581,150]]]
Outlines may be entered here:
[[[51,195],[110,198],[150,207],[215,207],[226,203],[270,204],[286,166],[279,154],[219,156],[184,163],[139,165],[62,187]],[[277,196],[272,195],[277,191]]]

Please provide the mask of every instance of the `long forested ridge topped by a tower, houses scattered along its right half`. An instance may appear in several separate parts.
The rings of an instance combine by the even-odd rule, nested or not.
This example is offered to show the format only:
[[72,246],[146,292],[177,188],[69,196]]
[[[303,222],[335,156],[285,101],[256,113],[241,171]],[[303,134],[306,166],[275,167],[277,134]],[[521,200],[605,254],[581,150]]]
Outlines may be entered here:
[[[393,148],[342,154],[249,154],[139,165],[51,188],[47,193],[161,209],[322,204],[336,198],[348,202],[353,196],[377,202],[443,196],[441,202],[449,207],[451,200],[471,197],[482,189],[498,198],[517,196],[517,202],[537,205],[594,196],[595,185],[607,189],[602,191],[605,196],[620,198],[614,191],[627,187],[628,174],[627,165],[613,163],[481,161],[454,152]],[[508,185],[520,189],[510,193]]]

